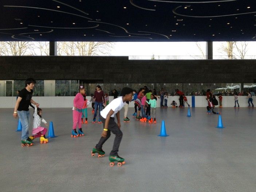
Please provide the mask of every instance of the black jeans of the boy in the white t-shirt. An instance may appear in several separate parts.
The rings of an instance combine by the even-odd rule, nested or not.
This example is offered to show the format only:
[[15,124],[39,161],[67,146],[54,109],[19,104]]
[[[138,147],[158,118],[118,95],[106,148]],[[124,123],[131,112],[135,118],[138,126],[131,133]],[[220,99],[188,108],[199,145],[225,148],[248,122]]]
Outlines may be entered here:
[[[103,122],[103,128],[105,126],[105,121],[106,119],[104,119],[101,115],[100,115],[100,119]],[[101,137],[100,141],[98,142],[98,144],[96,145],[96,149],[102,149],[102,145],[106,142],[106,140],[108,140],[108,138],[110,137],[110,132],[112,132],[113,134],[116,135],[115,140],[114,140],[114,144],[113,144],[113,149],[110,152],[110,155],[118,155],[118,149],[119,149],[119,145],[120,142],[122,140],[123,137],[123,133],[121,132],[121,130],[119,129],[119,127],[117,126],[116,122],[115,122],[115,118],[114,117],[110,117],[109,119],[109,124],[108,124],[108,132],[106,137]]]

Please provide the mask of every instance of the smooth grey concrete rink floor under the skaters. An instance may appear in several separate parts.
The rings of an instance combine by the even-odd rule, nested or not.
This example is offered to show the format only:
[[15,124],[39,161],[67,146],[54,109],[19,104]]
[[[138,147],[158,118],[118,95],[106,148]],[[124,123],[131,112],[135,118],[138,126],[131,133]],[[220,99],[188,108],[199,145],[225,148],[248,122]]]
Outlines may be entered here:
[[[47,144],[37,138],[29,148],[20,146],[13,109],[0,109],[0,191],[255,192],[255,109],[216,108],[224,129],[215,128],[218,115],[206,108],[191,108],[192,117],[186,117],[187,109],[157,108],[157,124],[148,124],[133,119],[129,108],[131,121],[121,121],[121,167],[109,166],[113,134],[103,146],[105,157],[91,157],[103,129],[91,123],[91,108],[89,124],[82,124],[85,137],[79,138],[70,137],[71,109],[43,108],[58,137]],[[169,137],[157,136],[162,120]]]

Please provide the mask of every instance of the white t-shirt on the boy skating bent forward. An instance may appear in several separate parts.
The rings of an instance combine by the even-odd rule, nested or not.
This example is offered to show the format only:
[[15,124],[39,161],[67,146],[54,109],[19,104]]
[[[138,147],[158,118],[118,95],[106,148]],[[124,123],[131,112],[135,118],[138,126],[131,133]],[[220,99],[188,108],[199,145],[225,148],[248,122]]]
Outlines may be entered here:
[[115,117],[115,114],[124,107],[124,104],[125,104],[125,102],[123,102],[123,97],[118,97],[118,98],[114,99],[113,101],[111,101],[105,107],[105,109],[100,111],[100,115],[103,118],[106,118],[106,116],[108,115],[109,111],[112,109],[112,111],[114,111],[114,113],[110,117]]

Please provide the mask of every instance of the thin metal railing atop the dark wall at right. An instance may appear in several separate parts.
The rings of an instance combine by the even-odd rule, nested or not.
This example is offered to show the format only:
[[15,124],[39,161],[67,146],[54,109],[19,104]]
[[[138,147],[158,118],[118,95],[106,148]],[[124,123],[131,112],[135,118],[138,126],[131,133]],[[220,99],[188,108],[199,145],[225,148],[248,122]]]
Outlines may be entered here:
[[256,59],[256,55],[226,56],[226,55],[168,55],[168,56],[129,56],[129,60],[196,60],[196,59]]

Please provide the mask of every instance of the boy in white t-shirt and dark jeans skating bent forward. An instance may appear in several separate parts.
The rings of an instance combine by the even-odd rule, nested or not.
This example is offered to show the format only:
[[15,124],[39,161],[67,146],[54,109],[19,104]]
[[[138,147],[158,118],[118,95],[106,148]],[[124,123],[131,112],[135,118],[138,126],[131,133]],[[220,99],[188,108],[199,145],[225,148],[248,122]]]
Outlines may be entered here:
[[[113,144],[113,149],[109,155],[110,166],[114,165],[114,161],[118,161],[118,166],[124,164],[124,158],[118,156],[118,149],[120,142],[123,137],[123,133],[120,128],[120,110],[124,107],[126,101],[132,100],[132,89],[129,87],[124,87],[122,89],[122,96],[114,99],[110,102],[105,109],[100,111],[100,119],[103,122],[103,132],[101,133],[101,138],[98,144],[93,148],[91,154],[94,156],[94,153],[98,153],[98,157],[104,156],[105,152],[102,150],[102,145],[110,137],[110,132],[116,135],[115,141]],[[117,124],[115,122],[115,114],[117,118]]]

